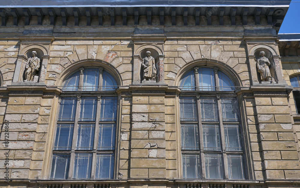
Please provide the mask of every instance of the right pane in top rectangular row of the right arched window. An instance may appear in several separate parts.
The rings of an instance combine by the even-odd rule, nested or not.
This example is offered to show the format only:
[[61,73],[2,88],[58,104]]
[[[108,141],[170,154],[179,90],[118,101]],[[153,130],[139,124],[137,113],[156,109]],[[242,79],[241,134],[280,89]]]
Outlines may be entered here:
[[222,106],[222,116],[223,121],[225,122],[238,122],[238,101],[236,98],[232,97],[222,97],[221,98],[221,106]]

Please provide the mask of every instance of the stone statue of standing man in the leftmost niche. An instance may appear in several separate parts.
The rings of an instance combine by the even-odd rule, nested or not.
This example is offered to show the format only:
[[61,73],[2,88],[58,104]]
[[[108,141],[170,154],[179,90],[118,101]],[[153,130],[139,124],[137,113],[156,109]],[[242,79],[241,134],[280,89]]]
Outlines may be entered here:
[[38,73],[38,69],[40,68],[40,58],[36,57],[37,52],[32,51],[32,56],[28,58],[25,75],[25,81],[33,81],[35,75]]

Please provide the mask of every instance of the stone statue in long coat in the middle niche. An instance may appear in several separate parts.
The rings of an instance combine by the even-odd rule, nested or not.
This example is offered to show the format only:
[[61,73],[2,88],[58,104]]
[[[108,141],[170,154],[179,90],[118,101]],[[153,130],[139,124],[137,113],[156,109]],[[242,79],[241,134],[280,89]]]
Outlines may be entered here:
[[146,52],[147,56],[144,57],[142,67],[144,70],[143,81],[156,81],[157,69],[155,67],[155,60],[151,56],[151,52]]

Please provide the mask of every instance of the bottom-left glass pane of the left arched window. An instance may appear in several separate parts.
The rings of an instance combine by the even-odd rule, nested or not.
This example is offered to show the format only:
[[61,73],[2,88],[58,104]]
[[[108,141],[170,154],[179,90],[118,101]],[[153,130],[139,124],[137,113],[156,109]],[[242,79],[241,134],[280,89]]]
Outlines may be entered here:
[[50,179],[67,179],[70,155],[53,154]]

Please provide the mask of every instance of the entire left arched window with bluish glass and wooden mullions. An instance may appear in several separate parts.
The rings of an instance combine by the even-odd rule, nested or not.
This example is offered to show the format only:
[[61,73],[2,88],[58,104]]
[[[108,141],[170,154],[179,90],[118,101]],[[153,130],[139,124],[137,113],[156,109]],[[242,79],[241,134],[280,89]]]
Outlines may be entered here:
[[116,83],[102,67],[80,68],[64,81],[50,179],[113,178]]

